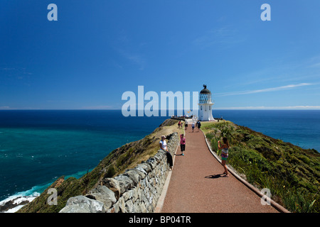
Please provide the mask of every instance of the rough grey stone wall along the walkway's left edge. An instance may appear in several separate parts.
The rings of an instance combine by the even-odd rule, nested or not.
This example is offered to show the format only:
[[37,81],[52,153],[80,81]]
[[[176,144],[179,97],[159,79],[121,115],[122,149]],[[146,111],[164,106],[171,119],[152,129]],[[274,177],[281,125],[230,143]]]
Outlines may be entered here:
[[[178,133],[167,136],[172,156],[178,145]],[[105,178],[101,185],[85,196],[68,199],[59,213],[151,213],[161,195],[169,165],[166,153],[158,150],[154,157],[114,178]]]

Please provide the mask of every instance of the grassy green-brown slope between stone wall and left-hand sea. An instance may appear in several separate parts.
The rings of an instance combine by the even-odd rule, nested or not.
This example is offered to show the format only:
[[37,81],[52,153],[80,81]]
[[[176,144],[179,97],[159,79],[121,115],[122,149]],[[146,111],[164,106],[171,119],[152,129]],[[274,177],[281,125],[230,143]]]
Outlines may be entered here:
[[60,209],[63,209],[70,197],[85,195],[91,189],[97,187],[102,179],[115,177],[154,156],[159,150],[161,135],[169,135],[174,132],[181,133],[181,130],[178,129],[178,121],[171,119],[164,121],[159,128],[146,135],[142,140],[127,143],[113,150],[95,169],[87,172],[80,179],[75,177],[64,179],[63,176],[53,182],[48,189],[57,189],[58,205],[50,206],[47,204],[50,194],[47,194],[48,189],[46,189],[31,203],[18,210],[18,213],[58,213]]

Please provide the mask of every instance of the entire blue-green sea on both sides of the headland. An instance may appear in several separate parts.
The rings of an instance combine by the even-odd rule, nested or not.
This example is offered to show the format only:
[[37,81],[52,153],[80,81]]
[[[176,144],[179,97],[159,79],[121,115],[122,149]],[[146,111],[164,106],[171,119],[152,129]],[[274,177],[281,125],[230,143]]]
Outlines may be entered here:
[[[320,111],[213,110],[213,116],[320,150]],[[166,118],[126,118],[121,110],[0,111],[0,201],[37,196],[62,175],[81,177]]]

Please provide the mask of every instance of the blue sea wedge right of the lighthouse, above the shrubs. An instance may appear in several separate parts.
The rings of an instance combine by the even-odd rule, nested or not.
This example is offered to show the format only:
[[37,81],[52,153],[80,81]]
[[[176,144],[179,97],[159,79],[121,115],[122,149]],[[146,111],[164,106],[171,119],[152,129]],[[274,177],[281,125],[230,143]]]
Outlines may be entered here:
[[213,116],[304,149],[320,151],[319,110],[216,110]]

